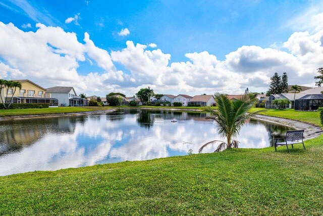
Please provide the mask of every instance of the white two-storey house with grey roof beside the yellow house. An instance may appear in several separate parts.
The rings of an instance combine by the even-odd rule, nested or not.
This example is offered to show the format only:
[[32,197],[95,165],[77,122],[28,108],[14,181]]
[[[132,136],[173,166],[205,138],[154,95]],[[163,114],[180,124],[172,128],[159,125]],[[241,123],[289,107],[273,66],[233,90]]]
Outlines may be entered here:
[[46,89],[46,92],[59,100],[60,107],[70,106],[70,99],[77,96],[73,87],[50,87]]

